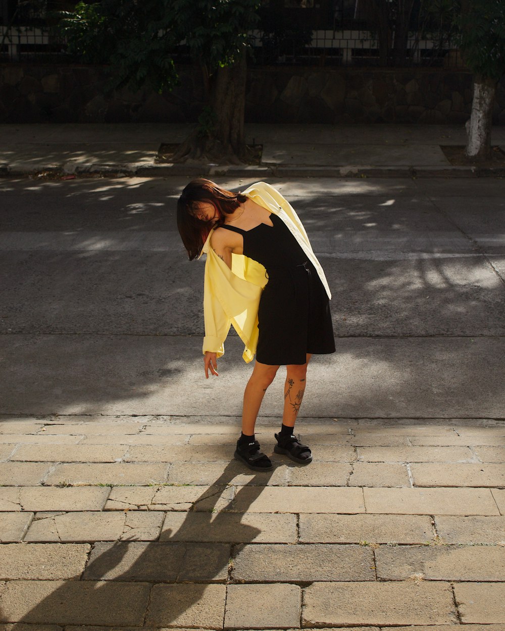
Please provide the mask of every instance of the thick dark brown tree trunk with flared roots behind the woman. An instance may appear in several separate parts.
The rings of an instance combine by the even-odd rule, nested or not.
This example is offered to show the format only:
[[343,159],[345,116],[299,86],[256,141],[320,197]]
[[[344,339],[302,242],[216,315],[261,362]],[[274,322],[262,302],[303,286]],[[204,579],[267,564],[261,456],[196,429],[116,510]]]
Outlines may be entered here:
[[241,164],[250,158],[245,144],[246,56],[209,77],[209,103],[199,125],[173,156],[174,162]]

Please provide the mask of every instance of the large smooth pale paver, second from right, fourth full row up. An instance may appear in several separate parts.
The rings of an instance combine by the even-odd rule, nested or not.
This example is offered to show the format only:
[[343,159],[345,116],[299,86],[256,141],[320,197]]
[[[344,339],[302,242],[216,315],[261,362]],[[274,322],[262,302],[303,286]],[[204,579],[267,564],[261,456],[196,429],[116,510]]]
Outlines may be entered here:
[[488,488],[363,488],[369,513],[499,515]]

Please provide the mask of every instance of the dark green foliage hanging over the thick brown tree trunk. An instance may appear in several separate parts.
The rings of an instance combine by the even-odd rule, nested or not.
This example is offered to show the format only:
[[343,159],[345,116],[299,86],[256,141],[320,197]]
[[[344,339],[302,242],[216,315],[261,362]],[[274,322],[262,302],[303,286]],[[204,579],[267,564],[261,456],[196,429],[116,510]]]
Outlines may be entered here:
[[174,53],[183,42],[210,75],[233,64],[248,45],[257,0],[102,0],[64,13],[68,52],[86,63],[110,64],[109,87],[171,89]]

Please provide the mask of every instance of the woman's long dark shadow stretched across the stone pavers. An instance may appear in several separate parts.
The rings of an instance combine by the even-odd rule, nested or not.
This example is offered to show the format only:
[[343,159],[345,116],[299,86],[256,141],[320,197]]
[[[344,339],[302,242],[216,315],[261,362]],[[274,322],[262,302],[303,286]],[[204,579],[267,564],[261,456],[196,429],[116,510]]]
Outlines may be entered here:
[[[75,577],[63,583],[58,581],[59,585],[51,593],[47,593],[47,589],[49,585],[54,586],[53,582],[34,581],[33,600],[39,600],[41,595],[42,599],[17,620],[12,619],[16,611],[16,586],[10,595],[6,594],[9,585],[17,581],[9,582],[4,586],[7,608],[0,610],[0,622],[15,623],[11,631],[16,628],[21,631],[16,623],[23,624],[25,629],[25,623],[166,627],[178,621],[178,626],[184,627],[183,614],[188,608],[198,603],[207,589],[216,589],[209,584],[226,583],[232,545],[249,543],[260,534],[259,528],[241,522],[242,512],[229,511],[240,500],[241,511],[245,512],[267,486],[272,473],[254,474],[219,512],[215,512],[215,507],[222,497],[221,492],[212,494],[205,487],[176,532],[162,531],[162,541],[95,543],[80,580]],[[224,490],[236,475],[236,463],[231,462],[214,481],[212,487],[216,488],[212,490]],[[203,511],[197,510],[200,501],[205,502]],[[202,533],[197,537],[195,516],[198,516],[196,527]],[[230,531],[233,534],[225,541],[227,537],[223,533],[230,534]],[[131,547],[135,548],[132,562]],[[100,549],[104,551],[100,553]],[[120,565],[125,567],[118,572]],[[40,589],[42,592],[45,589],[44,594]],[[20,599],[26,602],[27,598],[18,592],[17,601]],[[21,604],[21,608],[26,611],[25,605]]]

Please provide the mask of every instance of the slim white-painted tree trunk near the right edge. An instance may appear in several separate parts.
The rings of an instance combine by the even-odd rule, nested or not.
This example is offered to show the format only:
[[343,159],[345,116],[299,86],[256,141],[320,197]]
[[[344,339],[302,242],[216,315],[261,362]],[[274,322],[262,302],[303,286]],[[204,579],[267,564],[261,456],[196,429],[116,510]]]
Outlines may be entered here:
[[496,81],[475,75],[473,79],[472,115],[466,122],[465,155],[475,162],[491,158],[491,127]]

